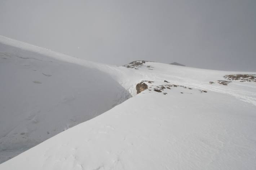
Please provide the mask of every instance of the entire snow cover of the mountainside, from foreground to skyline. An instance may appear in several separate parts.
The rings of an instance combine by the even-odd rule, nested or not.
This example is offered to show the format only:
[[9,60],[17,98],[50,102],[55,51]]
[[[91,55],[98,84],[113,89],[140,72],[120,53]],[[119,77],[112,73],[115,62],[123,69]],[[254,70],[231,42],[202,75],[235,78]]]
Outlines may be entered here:
[[[47,129],[57,124],[62,130],[74,115],[81,123],[96,116],[87,117],[88,110],[95,113],[99,107],[99,115],[110,109],[57,131],[0,170],[256,169],[256,82],[209,83],[225,81],[229,74],[256,73],[147,61],[117,67],[5,37],[0,42],[5,50],[0,78],[6,82],[0,84],[1,155],[21,149],[21,143],[34,146],[38,135],[46,136],[39,141],[49,138],[54,130]],[[136,95],[141,81],[149,88]],[[86,118],[80,120],[83,110]]]

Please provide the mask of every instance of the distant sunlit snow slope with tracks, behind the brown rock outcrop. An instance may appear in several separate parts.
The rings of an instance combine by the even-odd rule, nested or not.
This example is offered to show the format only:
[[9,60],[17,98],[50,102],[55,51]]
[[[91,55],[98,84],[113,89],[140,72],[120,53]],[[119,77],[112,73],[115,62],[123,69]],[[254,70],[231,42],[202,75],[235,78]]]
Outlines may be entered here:
[[[144,63],[145,62],[145,63]],[[226,72],[217,70],[181,67],[150,61],[137,61],[140,64],[128,64],[128,69],[134,71],[134,83],[139,81],[154,81],[150,85],[162,85],[164,80],[173,84],[189,86],[191,88],[206,89],[209,91],[225,93],[242,101],[256,105],[256,79],[252,82],[241,82],[235,80],[227,86],[219,84],[218,81],[229,81],[225,75],[233,74],[256,74],[253,72]],[[127,65],[125,65],[127,67]],[[130,67],[132,66],[132,67]],[[137,74],[140,74],[138,76]],[[254,75],[256,76],[256,75]],[[131,79],[131,78],[130,78]],[[213,82],[213,83],[210,83]],[[128,86],[126,85],[125,88]],[[135,87],[132,87],[135,89]],[[134,95],[134,91],[129,90]]]

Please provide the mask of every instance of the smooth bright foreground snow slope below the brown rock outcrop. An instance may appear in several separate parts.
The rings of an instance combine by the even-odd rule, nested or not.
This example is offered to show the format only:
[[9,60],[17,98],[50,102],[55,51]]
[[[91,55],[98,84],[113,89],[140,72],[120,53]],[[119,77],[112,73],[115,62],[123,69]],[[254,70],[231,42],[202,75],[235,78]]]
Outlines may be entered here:
[[166,92],[144,91],[0,169],[256,168],[254,105],[218,92]]

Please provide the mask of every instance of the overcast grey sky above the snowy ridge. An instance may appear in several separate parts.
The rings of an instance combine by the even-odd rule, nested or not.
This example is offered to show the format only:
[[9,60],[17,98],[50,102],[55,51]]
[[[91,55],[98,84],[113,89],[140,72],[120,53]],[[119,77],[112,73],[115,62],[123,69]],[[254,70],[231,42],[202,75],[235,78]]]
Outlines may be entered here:
[[0,35],[114,65],[256,71],[256,0],[0,0]]

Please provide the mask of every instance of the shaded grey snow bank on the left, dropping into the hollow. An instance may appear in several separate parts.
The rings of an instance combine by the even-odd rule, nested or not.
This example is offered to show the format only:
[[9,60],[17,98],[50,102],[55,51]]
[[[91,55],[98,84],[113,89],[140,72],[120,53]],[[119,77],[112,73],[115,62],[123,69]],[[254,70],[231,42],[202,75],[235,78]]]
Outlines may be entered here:
[[101,64],[68,63],[20,44],[0,41],[0,163],[131,97]]

